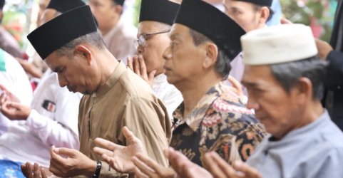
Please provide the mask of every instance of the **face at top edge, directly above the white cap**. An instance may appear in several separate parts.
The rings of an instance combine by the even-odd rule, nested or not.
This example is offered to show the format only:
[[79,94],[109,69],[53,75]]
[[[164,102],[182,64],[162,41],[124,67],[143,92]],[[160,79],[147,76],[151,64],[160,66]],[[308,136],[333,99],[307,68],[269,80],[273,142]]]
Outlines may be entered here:
[[244,1],[223,0],[225,14],[230,16],[246,32],[257,29],[259,26],[260,12],[256,12],[252,3]]

